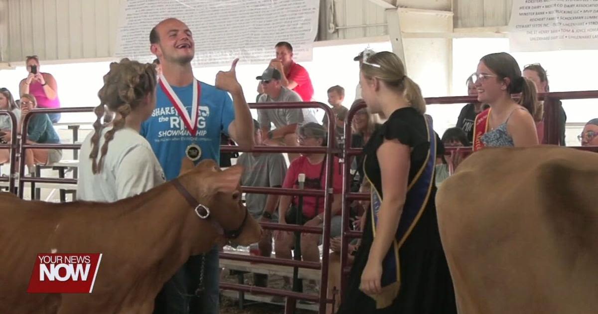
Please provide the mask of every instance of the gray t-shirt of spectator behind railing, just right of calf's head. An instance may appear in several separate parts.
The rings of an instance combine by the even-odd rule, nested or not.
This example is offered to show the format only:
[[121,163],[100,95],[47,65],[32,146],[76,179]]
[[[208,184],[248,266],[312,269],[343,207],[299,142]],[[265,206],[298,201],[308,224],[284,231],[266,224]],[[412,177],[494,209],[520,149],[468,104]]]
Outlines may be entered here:
[[[239,156],[237,164],[245,168],[241,178],[242,185],[248,187],[282,187],[286,175],[286,161],[282,154],[252,154]],[[258,219],[266,207],[267,194],[248,193],[245,202],[249,213]],[[277,210],[273,220],[277,221]]]

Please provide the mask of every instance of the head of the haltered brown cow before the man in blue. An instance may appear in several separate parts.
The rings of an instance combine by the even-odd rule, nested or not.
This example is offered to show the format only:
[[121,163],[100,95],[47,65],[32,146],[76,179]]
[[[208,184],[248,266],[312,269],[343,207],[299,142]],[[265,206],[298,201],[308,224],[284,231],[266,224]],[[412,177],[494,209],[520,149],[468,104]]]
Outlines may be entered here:
[[[181,176],[185,188],[202,205],[209,209],[206,220],[216,222],[224,234],[218,237],[218,243],[227,242],[249,245],[260,240],[262,230],[260,224],[249,214],[241,200],[241,175],[243,167],[232,166],[221,170],[213,160],[203,160],[197,166],[187,158],[181,164]],[[194,219],[202,219],[198,216]],[[227,238],[226,233],[239,231],[238,236]]]

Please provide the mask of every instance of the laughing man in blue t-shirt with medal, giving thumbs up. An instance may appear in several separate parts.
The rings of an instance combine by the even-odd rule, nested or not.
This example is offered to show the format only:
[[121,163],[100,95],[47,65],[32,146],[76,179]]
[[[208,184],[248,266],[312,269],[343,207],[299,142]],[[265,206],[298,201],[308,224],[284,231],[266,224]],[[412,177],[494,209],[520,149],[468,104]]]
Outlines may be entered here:
[[[191,31],[179,20],[166,19],[149,33],[151,52],[158,57],[161,75],[156,90],[156,106],[142,124],[141,135],[147,138],[164,169],[167,180],[176,178],[181,160],[186,156],[199,162],[213,159],[219,162],[220,135],[225,133],[242,150],[254,145],[253,119],[237,81],[234,60],[230,71],[218,72],[216,86],[193,77],[191,60],[195,44]],[[230,93],[233,96],[231,100]],[[203,260],[203,261],[202,261]],[[203,263],[203,267],[202,267]],[[201,306],[194,295],[199,285],[201,269],[203,291]],[[218,248],[191,257],[164,284],[158,294],[154,313],[216,314],[218,309]]]

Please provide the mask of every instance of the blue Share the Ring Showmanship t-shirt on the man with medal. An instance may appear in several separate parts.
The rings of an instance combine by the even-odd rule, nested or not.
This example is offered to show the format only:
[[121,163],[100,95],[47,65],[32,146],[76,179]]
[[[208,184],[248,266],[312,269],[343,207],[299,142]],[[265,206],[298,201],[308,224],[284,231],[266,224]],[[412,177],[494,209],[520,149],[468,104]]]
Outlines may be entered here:
[[[141,126],[141,135],[148,140],[155,156],[158,157],[166,180],[172,180],[179,175],[181,160],[185,157],[185,150],[190,144],[197,144],[202,149],[199,161],[213,159],[216,164],[219,164],[220,134],[224,132],[228,135],[228,126],[234,120],[233,100],[223,90],[203,82],[200,84],[196,136],[191,135],[187,130],[183,118],[176,112],[174,105],[159,85],[156,90],[154,112]],[[172,86],[172,90],[181,99],[191,117],[193,83],[185,87]]]

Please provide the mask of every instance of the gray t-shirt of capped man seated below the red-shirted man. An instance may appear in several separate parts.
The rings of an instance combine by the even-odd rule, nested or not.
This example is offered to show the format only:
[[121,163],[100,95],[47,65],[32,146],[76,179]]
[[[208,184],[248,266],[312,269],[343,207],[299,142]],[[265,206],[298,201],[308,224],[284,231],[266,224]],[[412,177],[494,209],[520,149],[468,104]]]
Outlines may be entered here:
[[[299,94],[292,90],[282,87],[280,95],[274,99],[267,94],[262,94],[258,102],[303,102]],[[274,124],[274,128],[288,126],[294,123],[316,122],[316,117],[312,114],[310,109],[258,109],[258,121],[260,126],[266,129],[271,128],[270,124]]]

